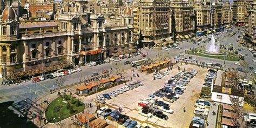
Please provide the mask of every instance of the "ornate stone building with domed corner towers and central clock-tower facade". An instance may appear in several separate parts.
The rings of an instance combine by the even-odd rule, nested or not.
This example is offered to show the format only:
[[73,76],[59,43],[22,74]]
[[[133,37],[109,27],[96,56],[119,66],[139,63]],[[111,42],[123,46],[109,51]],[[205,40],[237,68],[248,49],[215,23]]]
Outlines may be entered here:
[[133,14],[127,4],[120,24],[87,12],[86,1],[62,4],[56,21],[19,21],[8,4],[0,16],[0,76],[14,79],[103,60],[133,48]]

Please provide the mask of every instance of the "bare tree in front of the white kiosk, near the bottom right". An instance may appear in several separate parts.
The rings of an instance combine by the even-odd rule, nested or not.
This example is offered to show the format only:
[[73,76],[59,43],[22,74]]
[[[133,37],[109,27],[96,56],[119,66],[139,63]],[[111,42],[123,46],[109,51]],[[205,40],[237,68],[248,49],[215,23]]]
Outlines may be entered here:
[[234,109],[235,117],[232,118],[232,123],[234,127],[240,127],[242,123],[241,115],[242,115],[242,103],[244,100],[239,98],[238,96],[229,96],[231,101],[231,107]]

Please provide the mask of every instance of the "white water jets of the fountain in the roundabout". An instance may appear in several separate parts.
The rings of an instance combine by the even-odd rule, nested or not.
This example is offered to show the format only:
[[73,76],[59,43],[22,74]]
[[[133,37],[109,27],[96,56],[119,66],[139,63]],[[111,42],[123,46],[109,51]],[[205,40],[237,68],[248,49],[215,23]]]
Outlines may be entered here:
[[215,42],[215,39],[212,35],[211,41],[206,44],[206,51],[210,53],[219,53],[220,52],[220,44]]

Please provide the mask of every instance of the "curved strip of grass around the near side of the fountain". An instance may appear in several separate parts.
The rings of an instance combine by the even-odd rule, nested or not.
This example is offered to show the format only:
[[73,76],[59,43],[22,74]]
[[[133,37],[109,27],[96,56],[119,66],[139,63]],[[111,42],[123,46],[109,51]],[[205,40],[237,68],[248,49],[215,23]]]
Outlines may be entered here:
[[196,56],[203,56],[203,57],[208,57],[208,58],[215,58],[215,59],[222,59],[222,60],[229,60],[229,61],[238,61],[239,57],[238,55],[235,55],[234,53],[225,51],[228,53],[228,55],[225,56],[210,56],[210,55],[205,55],[202,54],[200,52],[198,52],[198,50],[203,50],[203,49],[194,49],[194,50],[188,50],[187,53],[190,55],[196,55]]

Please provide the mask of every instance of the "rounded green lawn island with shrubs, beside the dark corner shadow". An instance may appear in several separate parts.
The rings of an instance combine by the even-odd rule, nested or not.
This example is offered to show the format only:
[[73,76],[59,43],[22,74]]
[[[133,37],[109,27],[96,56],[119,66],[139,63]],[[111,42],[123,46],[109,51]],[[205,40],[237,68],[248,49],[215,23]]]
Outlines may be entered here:
[[[64,103],[65,101],[66,103]],[[83,111],[85,105],[70,95],[59,96],[45,110],[45,117],[50,123],[56,123]]]

